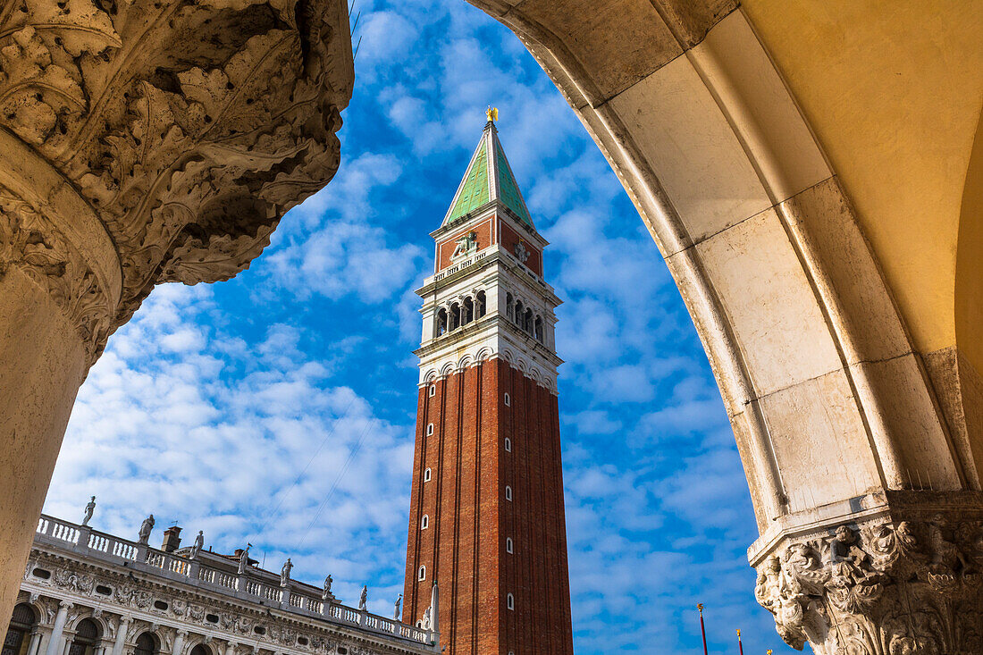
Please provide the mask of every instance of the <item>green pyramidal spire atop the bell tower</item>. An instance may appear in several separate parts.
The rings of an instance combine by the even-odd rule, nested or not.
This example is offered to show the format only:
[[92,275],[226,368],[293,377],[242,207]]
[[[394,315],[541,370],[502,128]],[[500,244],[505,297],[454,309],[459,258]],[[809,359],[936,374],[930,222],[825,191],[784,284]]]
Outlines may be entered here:
[[526,202],[522,200],[519,185],[515,175],[505,158],[505,150],[498,141],[498,130],[494,126],[492,116],[485,124],[482,140],[478,143],[464,179],[454,194],[454,200],[444,216],[443,225],[448,225],[477,208],[501,201],[511,209],[527,226],[535,229],[533,219],[529,216]]

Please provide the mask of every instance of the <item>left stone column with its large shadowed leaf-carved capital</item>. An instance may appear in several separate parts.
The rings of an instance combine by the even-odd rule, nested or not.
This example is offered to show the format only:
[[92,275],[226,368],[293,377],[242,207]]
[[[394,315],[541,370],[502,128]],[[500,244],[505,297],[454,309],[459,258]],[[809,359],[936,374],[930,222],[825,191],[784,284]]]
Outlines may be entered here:
[[4,616],[109,334],[249,266],[337,169],[354,83],[344,0],[69,4],[0,0]]

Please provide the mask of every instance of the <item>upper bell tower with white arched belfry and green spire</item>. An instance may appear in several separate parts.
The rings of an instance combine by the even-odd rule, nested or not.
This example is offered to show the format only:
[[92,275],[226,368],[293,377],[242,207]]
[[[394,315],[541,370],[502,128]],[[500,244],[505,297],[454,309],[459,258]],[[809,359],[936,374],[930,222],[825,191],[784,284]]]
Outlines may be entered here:
[[440,227],[434,274],[424,299],[420,385],[478,362],[503,358],[556,392],[554,310],[543,279],[548,245],[529,210],[489,121]]

